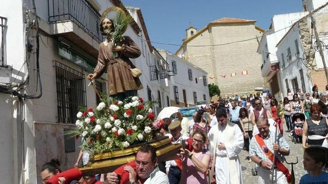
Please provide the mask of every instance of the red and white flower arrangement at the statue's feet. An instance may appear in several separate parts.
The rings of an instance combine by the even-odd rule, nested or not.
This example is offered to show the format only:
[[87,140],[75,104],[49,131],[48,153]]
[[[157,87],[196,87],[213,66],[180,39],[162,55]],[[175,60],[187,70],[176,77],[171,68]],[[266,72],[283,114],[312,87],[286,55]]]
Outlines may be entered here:
[[139,97],[104,98],[96,109],[80,109],[74,132],[76,138],[85,139],[80,148],[99,154],[152,140],[159,130],[151,106]]

